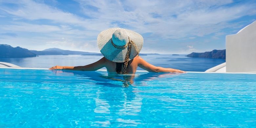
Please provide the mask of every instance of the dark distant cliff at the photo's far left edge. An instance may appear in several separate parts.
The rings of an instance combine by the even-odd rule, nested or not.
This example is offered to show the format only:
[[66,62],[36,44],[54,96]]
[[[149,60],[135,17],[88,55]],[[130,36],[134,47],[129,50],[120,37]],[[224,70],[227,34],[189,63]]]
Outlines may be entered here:
[[0,58],[35,57],[36,54],[21,47],[13,48],[7,44],[0,44]]

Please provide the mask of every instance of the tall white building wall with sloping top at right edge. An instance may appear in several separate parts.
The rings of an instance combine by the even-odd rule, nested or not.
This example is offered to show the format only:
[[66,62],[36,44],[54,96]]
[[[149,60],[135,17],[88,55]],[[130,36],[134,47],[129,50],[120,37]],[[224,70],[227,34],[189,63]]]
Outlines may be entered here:
[[256,21],[226,36],[226,72],[256,71]]

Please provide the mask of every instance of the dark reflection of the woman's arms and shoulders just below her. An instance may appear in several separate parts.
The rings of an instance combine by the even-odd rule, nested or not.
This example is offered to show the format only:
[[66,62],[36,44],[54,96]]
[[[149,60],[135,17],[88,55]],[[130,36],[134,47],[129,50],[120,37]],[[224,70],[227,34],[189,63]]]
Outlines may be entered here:
[[[150,73],[150,72],[137,72],[137,74],[120,75],[107,73],[104,71],[72,71],[72,70],[51,70],[55,74],[72,74],[77,76],[79,79],[90,79],[95,81],[95,84],[110,86],[110,87],[120,87],[120,82],[122,87],[132,86],[146,86],[143,81],[154,80],[159,77],[172,77],[175,75],[180,75],[181,73]],[[87,73],[89,72],[89,73]],[[116,82],[113,82],[116,81]],[[139,81],[139,84],[134,84],[135,81]]]

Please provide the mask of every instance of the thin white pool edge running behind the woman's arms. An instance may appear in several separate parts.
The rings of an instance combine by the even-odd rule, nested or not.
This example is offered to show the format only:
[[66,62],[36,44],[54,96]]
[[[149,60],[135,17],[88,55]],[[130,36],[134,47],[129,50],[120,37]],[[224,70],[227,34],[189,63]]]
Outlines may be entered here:
[[[49,70],[48,68],[24,68],[24,67],[0,67],[0,69],[30,69],[30,70]],[[99,69],[97,71],[107,71],[106,69]],[[148,72],[144,70],[137,70],[136,72]],[[187,72],[187,73],[213,73],[213,74],[256,74],[250,72],[240,72],[240,73],[233,73],[233,72]]]

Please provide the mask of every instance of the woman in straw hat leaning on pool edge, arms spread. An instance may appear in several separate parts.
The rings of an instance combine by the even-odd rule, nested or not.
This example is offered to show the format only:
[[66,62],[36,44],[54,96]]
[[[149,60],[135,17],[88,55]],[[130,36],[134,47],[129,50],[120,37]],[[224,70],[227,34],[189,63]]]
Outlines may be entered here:
[[109,73],[135,74],[139,66],[148,72],[185,73],[178,69],[156,67],[142,59],[139,52],[143,46],[143,37],[131,30],[112,28],[102,31],[98,35],[97,44],[104,56],[97,62],[76,67],[54,66],[50,70],[96,71],[106,67]]

